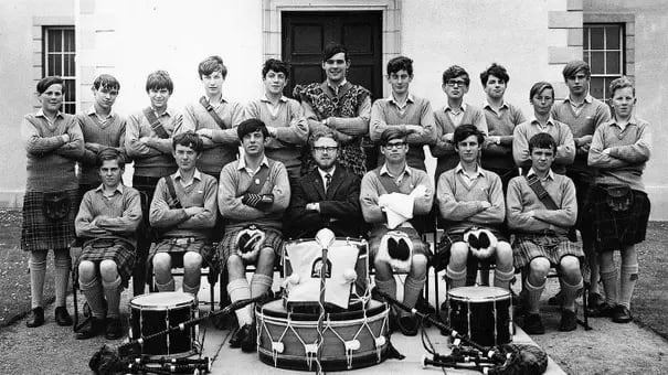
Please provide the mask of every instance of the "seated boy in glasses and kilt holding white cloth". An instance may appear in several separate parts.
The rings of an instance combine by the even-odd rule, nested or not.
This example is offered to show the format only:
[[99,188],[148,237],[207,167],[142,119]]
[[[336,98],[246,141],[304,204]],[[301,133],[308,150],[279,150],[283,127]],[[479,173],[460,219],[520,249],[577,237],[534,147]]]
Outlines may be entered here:
[[[362,179],[360,204],[364,219],[372,225],[369,249],[375,268],[375,286],[390,296],[396,296],[393,275],[396,262],[388,261],[388,255],[391,259],[403,260],[407,269],[402,270],[409,272],[403,303],[414,307],[426,281],[428,249],[407,221],[410,217],[396,219],[400,217],[397,212],[411,217],[427,215],[432,210],[434,189],[426,172],[406,164],[406,137],[399,127],[383,131],[380,151],[385,162]],[[412,251],[406,251],[406,247]],[[402,312],[395,322],[403,334],[417,334],[420,324],[411,313]]]

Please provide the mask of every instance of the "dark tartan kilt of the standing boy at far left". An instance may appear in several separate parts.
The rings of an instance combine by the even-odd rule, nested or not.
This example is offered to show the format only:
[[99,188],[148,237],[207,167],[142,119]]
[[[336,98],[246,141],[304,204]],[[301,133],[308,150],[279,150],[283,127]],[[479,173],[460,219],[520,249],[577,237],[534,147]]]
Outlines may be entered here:
[[45,251],[68,248],[75,239],[74,218],[78,212],[78,190],[59,192],[68,200],[67,214],[52,219],[44,214],[43,192],[25,192],[23,196],[23,224],[21,248],[25,251]]

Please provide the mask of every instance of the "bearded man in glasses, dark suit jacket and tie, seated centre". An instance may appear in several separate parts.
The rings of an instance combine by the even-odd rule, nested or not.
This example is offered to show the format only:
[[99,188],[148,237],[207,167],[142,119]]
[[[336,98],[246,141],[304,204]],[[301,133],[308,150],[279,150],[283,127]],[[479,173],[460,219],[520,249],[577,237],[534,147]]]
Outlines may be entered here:
[[339,143],[331,130],[317,130],[309,140],[318,165],[293,189],[286,231],[293,238],[312,238],[321,228],[338,237],[359,237],[365,224],[360,208],[360,179],[337,163]]

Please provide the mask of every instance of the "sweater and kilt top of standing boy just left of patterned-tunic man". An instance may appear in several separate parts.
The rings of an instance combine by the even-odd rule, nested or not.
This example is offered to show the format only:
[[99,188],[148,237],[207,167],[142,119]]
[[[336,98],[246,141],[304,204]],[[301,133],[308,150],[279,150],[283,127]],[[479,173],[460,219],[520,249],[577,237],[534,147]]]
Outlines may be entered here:
[[276,128],[276,138],[271,137],[265,146],[265,153],[272,160],[280,161],[285,168],[300,168],[301,148],[308,138],[308,124],[299,101],[280,97],[275,114],[269,109],[266,98],[248,103],[246,118],[258,118],[266,126]]

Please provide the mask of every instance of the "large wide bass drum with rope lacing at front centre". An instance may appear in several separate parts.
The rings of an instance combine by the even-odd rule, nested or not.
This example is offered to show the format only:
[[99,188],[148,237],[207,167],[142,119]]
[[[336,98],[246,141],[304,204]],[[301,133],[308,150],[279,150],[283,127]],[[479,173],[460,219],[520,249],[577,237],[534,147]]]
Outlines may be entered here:
[[[324,371],[368,367],[386,358],[390,308],[370,300],[362,310],[327,313],[320,364]],[[255,311],[259,360],[279,368],[316,366],[318,315],[290,313],[280,300]]]

